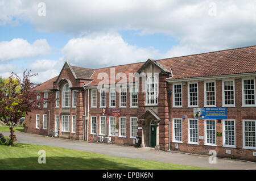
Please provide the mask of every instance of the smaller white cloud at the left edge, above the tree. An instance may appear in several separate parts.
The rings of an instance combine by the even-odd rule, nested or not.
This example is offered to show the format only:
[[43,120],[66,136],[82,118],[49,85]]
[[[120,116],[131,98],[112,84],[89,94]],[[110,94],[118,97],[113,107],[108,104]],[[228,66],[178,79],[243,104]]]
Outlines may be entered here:
[[0,61],[13,60],[15,58],[35,57],[48,54],[51,48],[47,40],[40,39],[30,44],[27,40],[13,39],[0,42]]

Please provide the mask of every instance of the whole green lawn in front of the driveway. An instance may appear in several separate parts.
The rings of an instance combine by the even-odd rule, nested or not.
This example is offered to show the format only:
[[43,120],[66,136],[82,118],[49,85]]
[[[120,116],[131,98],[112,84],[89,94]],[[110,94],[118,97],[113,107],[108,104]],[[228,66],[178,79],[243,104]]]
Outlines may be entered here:
[[[46,151],[46,164],[38,163],[39,150]],[[0,145],[0,163],[0,169],[205,169],[18,142]]]

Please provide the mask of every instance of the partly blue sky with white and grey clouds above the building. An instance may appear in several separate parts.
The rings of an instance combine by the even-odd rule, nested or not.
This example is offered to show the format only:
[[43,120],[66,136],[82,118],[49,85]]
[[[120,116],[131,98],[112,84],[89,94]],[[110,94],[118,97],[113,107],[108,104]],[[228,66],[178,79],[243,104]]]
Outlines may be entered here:
[[256,45],[256,1],[0,0],[0,76]]

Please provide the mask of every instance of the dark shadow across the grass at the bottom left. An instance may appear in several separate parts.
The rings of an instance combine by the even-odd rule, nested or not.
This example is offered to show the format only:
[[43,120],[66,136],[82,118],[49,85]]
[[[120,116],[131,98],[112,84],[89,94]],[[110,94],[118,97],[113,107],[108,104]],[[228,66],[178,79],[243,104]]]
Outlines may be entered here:
[[137,170],[138,167],[128,166],[126,163],[111,162],[104,158],[86,158],[86,157],[46,157],[46,163],[38,163],[38,157],[28,158],[5,158],[0,159],[2,163],[0,169],[97,169],[97,170]]

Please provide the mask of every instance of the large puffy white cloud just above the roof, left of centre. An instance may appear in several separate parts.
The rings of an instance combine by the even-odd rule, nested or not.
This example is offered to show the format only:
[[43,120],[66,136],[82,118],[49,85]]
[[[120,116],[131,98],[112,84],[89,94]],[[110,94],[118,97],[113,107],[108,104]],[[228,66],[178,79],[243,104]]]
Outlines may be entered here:
[[107,33],[71,39],[62,49],[63,59],[87,68],[130,64],[158,56],[154,48],[127,44],[120,35]]

